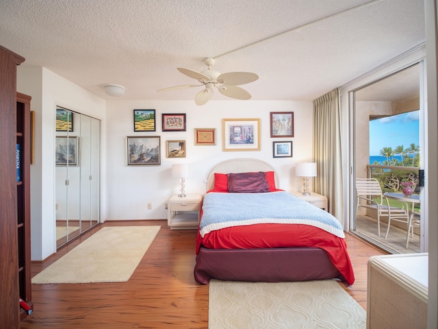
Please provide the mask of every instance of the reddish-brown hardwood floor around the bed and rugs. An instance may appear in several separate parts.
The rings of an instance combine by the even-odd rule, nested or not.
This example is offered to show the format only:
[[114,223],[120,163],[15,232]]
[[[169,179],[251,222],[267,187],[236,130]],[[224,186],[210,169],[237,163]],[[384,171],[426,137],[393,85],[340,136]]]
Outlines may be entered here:
[[[107,221],[66,245],[32,276],[105,226],[160,225],[162,229],[127,282],[32,284],[34,313],[22,329],[34,328],[207,328],[208,285],[194,281],[195,230],[170,230],[167,221]],[[356,282],[344,287],[366,310],[367,262],[384,254],[347,234]]]

